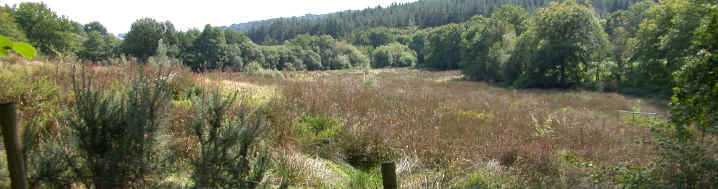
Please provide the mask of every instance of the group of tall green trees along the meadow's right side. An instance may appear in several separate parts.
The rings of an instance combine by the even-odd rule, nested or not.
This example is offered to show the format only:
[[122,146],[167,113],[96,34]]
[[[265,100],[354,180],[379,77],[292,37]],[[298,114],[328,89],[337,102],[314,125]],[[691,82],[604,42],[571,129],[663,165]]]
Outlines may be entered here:
[[[707,6],[643,1],[601,17],[590,4],[552,2],[532,14],[504,6],[490,17],[416,32],[420,66],[461,69],[471,80],[519,88],[604,88],[669,96],[694,61]],[[424,44],[424,45],[411,45]]]

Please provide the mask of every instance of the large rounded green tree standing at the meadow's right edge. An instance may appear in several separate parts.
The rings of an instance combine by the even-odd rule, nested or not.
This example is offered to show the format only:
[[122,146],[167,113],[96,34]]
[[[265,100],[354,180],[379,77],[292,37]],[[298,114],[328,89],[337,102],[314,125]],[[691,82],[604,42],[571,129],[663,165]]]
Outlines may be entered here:
[[[601,25],[590,7],[575,1],[551,3],[550,7],[538,10],[535,30],[522,36],[536,39],[533,55],[530,57],[520,86],[539,88],[570,88],[588,82],[588,68],[596,67],[605,54],[608,41]],[[519,41],[519,44],[522,42]],[[514,53],[516,54],[516,53]],[[519,61],[522,61],[519,59]],[[513,63],[521,64],[521,63]],[[598,78],[596,78],[598,79]],[[516,82],[509,81],[509,82]]]

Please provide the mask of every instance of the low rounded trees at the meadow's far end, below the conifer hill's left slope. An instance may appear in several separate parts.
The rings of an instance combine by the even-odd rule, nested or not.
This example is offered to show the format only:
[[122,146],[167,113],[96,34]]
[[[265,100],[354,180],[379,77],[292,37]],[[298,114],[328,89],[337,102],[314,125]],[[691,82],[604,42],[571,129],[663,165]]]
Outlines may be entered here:
[[358,48],[328,35],[298,35],[284,45],[260,46],[237,31],[207,25],[202,32],[189,30],[179,32],[177,36],[178,54],[185,65],[195,71],[225,68],[245,71],[253,62],[265,70],[292,71],[369,65],[369,58]]

